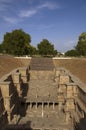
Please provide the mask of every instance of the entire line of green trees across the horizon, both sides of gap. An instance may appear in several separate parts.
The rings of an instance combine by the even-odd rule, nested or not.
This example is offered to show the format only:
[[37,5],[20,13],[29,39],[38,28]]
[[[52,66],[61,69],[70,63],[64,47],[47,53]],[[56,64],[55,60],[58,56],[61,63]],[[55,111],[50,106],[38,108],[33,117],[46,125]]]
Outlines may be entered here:
[[[27,34],[22,29],[16,29],[4,34],[3,41],[0,44],[0,53],[14,56],[56,56],[61,54],[54,48],[54,44],[47,39],[42,39],[37,44],[37,47],[32,46],[30,34]],[[74,49],[68,50],[65,56],[86,56],[86,32],[81,33],[77,45]]]

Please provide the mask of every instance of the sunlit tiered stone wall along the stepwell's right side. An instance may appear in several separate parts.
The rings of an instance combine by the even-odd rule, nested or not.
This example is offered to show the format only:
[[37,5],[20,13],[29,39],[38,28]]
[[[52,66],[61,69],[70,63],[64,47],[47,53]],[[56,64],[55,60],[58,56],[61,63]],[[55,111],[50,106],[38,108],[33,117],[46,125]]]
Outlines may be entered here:
[[66,121],[71,121],[75,130],[85,130],[86,85],[64,68],[56,69],[55,81],[59,84],[59,99],[63,95]]

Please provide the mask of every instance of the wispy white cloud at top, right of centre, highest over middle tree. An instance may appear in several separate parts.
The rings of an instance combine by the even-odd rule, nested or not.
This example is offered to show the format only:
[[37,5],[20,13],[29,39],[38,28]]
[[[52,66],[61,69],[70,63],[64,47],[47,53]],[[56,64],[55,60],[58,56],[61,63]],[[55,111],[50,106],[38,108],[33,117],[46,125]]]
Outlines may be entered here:
[[40,6],[38,6],[39,9],[42,9],[42,8],[48,8],[48,9],[57,9],[57,8],[60,8],[56,3],[50,3],[50,2],[46,2]]

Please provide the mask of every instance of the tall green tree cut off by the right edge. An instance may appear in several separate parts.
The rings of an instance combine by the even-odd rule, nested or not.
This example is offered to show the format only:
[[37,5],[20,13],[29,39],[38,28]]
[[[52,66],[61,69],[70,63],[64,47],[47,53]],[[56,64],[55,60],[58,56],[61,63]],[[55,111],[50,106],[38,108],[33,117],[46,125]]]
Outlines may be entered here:
[[78,44],[75,49],[79,55],[86,56],[86,32],[83,32],[78,38]]

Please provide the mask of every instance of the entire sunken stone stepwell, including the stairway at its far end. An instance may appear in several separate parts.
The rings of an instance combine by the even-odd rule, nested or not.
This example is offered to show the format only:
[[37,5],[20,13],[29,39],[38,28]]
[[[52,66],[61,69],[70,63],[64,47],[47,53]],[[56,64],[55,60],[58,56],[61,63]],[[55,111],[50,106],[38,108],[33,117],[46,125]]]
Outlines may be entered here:
[[0,80],[1,130],[85,130],[86,88],[51,58]]

